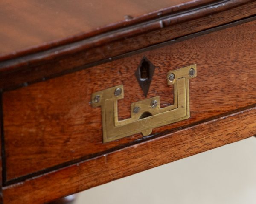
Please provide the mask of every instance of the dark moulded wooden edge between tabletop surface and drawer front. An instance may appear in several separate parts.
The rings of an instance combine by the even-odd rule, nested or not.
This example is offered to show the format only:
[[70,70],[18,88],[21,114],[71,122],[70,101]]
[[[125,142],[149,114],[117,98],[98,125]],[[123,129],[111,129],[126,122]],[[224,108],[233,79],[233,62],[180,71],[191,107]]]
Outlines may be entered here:
[[[244,5],[244,3],[247,3]],[[232,0],[170,14],[137,26],[119,29],[0,62],[0,88],[16,88],[92,66],[99,60],[145,48],[159,42],[223,25],[256,14],[256,1]],[[85,66],[84,66],[85,65]]]

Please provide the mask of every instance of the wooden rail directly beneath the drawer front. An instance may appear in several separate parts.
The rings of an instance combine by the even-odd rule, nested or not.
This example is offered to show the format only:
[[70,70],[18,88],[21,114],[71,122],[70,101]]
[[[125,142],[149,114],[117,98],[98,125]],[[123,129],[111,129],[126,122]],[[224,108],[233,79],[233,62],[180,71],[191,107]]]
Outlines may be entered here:
[[[41,204],[253,136],[256,107],[4,187],[4,204]],[[129,156],[128,156],[129,155]]]

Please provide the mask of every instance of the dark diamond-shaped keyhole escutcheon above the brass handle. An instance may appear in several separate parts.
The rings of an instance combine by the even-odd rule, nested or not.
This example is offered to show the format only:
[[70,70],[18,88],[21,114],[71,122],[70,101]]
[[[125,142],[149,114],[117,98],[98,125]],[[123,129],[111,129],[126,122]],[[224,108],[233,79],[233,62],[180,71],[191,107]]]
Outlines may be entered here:
[[140,65],[135,71],[135,76],[140,84],[140,87],[145,95],[148,94],[148,90],[153,78],[155,66],[144,56],[140,61]]

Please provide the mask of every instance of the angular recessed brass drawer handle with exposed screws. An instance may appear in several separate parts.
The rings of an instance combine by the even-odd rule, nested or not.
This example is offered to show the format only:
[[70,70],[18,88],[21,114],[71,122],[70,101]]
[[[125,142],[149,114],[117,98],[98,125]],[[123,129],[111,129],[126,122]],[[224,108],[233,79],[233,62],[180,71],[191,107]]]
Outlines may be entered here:
[[147,136],[153,128],[169,125],[190,117],[189,79],[196,77],[196,65],[167,73],[167,84],[174,85],[174,104],[160,108],[160,97],[131,104],[131,118],[118,120],[117,100],[124,97],[123,85],[92,94],[92,106],[102,107],[103,142],[121,139],[136,133]]

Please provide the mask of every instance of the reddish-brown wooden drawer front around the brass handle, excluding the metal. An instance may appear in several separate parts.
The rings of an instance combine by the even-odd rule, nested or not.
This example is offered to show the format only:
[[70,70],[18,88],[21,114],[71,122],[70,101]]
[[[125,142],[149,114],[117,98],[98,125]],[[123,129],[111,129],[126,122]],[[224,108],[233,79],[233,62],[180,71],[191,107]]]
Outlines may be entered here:
[[[255,30],[255,21],[244,23],[4,92],[6,181],[90,159],[255,104]],[[136,78],[143,59],[154,66],[146,96]],[[124,97],[117,108],[119,120],[124,120],[131,117],[134,102],[160,96],[162,108],[172,105],[174,88],[167,85],[166,74],[193,64],[197,76],[189,80],[188,119],[156,127],[149,136],[135,133],[103,143],[102,108],[92,106],[93,93],[122,85]]]

